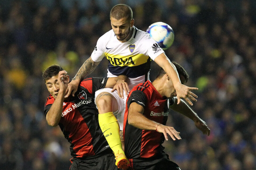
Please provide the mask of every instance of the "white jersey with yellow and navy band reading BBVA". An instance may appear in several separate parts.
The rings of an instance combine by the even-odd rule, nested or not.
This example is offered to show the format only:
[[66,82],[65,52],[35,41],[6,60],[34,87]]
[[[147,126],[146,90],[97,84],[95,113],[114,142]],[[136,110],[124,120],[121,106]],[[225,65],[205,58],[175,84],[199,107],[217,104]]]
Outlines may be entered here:
[[133,35],[129,41],[121,43],[111,29],[101,36],[91,54],[95,62],[104,57],[109,60],[107,77],[126,75],[131,87],[149,79],[150,62],[164,53],[148,33],[133,26]]

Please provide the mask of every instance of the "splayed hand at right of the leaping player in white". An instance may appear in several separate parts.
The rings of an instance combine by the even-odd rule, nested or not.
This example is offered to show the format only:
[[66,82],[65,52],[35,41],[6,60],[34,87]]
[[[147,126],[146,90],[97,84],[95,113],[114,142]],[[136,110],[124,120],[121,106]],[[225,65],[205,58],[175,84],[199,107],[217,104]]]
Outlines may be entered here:
[[191,90],[198,90],[197,87],[188,87],[184,84],[178,83],[174,88],[176,90],[178,99],[177,104],[181,102],[181,98],[185,99],[187,103],[189,103],[191,106],[193,105],[193,103],[190,100],[197,101],[197,95],[191,92]]

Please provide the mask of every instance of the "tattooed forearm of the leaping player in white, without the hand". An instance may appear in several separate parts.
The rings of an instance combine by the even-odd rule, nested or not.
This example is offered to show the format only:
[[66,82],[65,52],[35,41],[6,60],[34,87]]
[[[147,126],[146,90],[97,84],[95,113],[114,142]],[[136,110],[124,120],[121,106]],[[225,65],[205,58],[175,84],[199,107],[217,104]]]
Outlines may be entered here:
[[75,75],[75,77],[72,80],[81,80],[82,78],[87,77],[90,73],[93,72],[93,70],[95,70],[95,68],[98,66],[99,62],[94,62],[91,57],[88,58],[83,65],[80,67],[80,69],[78,70],[77,74]]

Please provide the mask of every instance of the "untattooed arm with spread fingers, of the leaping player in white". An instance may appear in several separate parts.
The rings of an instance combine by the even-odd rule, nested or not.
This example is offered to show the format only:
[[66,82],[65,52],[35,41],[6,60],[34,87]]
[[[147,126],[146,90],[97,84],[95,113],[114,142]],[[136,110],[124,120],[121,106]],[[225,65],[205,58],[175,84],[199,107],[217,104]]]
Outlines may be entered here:
[[160,54],[155,58],[154,60],[160,67],[162,67],[167,75],[171,78],[173,82],[173,86],[177,93],[178,98],[178,104],[180,103],[180,99],[184,98],[190,105],[193,105],[193,103],[190,100],[197,101],[195,98],[197,98],[197,95],[191,92],[191,90],[198,90],[196,87],[188,87],[184,84],[181,84],[181,81],[179,79],[177,69],[171,63],[171,61],[167,58],[165,53]]

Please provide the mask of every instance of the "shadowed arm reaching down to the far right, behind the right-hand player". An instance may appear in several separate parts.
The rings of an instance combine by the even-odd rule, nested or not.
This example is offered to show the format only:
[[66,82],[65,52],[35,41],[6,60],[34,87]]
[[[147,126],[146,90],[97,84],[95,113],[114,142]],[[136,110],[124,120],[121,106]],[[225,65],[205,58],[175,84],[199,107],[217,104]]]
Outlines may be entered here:
[[205,121],[203,121],[186,103],[185,101],[181,100],[181,103],[177,105],[177,100],[175,103],[170,107],[176,112],[179,112],[186,117],[190,118],[194,121],[195,126],[203,132],[203,134],[210,135],[210,129],[208,128]]

